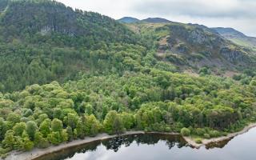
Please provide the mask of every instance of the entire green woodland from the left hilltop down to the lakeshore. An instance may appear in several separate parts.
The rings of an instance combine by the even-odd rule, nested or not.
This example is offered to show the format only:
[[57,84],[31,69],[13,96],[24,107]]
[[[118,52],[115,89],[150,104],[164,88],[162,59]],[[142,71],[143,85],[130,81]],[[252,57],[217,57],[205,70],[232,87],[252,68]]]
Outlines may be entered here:
[[126,130],[214,138],[256,121],[255,70],[182,74],[151,31],[58,2],[0,4],[3,156]]

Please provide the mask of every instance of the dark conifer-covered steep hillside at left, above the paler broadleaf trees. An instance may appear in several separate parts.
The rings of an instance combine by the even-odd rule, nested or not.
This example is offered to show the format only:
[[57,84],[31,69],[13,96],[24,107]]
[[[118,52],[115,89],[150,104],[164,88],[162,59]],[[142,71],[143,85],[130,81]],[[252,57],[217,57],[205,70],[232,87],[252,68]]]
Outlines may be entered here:
[[[136,34],[101,14],[49,0],[0,3],[0,92],[63,82],[80,71],[122,72],[124,59],[145,50]],[[130,51],[114,57],[121,50]]]

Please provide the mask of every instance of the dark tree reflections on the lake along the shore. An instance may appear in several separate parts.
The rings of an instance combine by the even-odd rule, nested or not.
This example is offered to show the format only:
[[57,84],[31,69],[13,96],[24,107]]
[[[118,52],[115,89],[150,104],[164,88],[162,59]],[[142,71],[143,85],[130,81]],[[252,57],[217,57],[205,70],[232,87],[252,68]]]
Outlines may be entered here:
[[[74,154],[86,153],[90,151],[96,151],[98,146],[105,146],[106,150],[118,150],[125,146],[128,147],[132,143],[136,143],[138,146],[142,144],[154,145],[158,142],[165,142],[166,147],[171,150],[174,146],[182,148],[183,146],[188,146],[187,142],[180,135],[167,135],[167,134],[133,134],[120,136],[117,138],[109,138],[102,141],[94,141],[90,143],[83,144],[81,146],[73,146],[68,149],[59,150],[58,152],[45,154],[40,158],[35,158],[34,160],[63,160],[66,158],[74,157]],[[222,148],[230,140],[218,143],[210,143],[206,146],[206,149],[212,149],[215,147]]]

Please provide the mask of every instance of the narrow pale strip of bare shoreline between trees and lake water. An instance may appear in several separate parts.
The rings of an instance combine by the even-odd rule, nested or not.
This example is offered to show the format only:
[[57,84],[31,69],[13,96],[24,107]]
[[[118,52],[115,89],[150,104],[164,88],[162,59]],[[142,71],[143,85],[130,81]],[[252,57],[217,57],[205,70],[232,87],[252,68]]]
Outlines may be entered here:
[[[222,137],[218,137],[218,138],[210,138],[210,139],[202,139],[202,143],[198,144],[196,142],[194,142],[194,139],[191,137],[184,137],[181,134],[178,133],[168,133],[168,132],[145,132],[145,131],[127,131],[124,134],[114,134],[114,135],[109,135],[109,134],[98,134],[96,137],[86,137],[84,139],[78,139],[78,140],[74,140],[72,142],[66,142],[66,143],[62,143],[58,146],[50,146],[46,149],[38,149],[35,148],[33,150],[27,151],[27,152],[23,152],[23,151],[11,151],[9,153],[9,155],[4,159],[4,160],[33,160],[34,158],[39,158],[45,154],[52,154],[54,152],[58,152],[59,150],[65,150],[68,149],[70,147],[74,147],[74,146],[79,146],[79,145],[83,145],[86,143],[90,143],[90,142],[95,142],[95,141],[102,141],[108,138],[115,138],[118,136],[123,136],[123,135],[132,135],[132,134],[166,134],[166,135],[181,135],[182,138],[184,138],[184,140],[188,143],[189,146],[192,146],[196,149],[199,149],[201,146],[206,146],[212,142],[222,142],[225,141],[227,139],[230,138],[234,138],[236,136],[238,136],[239,134],[244,134],[246,133],[248,130],[252,129],[256,127],[256,123],[252,123],[249,126],[246,126],[243,130],[240,130],[238,132],[235,133],[231,133],[228,134],[227,136],[222,136]],[[0,160],[3,160],[2,158],[0,158]]]

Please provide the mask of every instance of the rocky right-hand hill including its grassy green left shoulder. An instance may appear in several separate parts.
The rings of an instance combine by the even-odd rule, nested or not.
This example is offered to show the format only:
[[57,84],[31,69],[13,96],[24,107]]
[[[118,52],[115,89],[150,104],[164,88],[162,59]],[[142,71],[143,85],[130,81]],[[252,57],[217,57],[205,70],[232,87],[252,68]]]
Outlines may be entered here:
[[[252,50],[230,42],[206,26],[177,22],[128,25],[140,34],[150,34],[158,42],[156,56],[181,69],[243,70],[254,66]],[[219,74],[219,73],[218,73]]]

